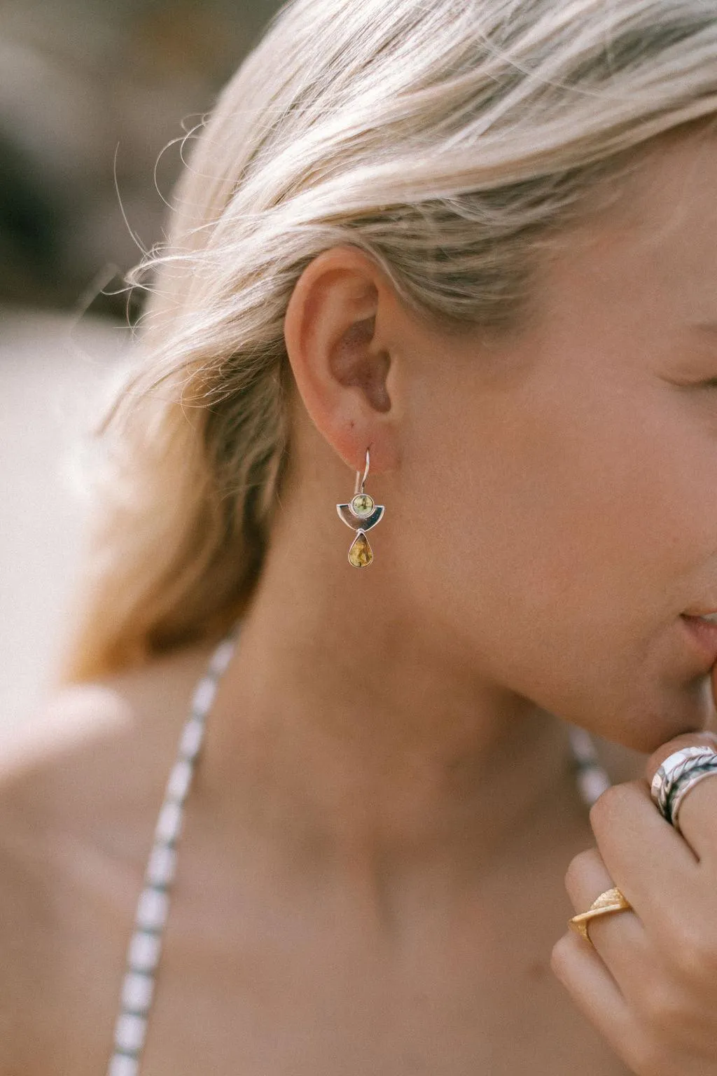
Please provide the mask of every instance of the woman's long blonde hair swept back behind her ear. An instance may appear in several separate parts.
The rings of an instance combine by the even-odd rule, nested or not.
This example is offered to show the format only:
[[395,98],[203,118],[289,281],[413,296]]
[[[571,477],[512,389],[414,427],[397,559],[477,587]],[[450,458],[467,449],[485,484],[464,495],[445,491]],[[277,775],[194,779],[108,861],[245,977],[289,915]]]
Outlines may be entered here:
[[[193,138],[102,466],[62,676],[218,638],[287,461],[283,320],[321,251],[417,312],[510,330],[545,238],[630,153],[717,115],[705,0],[296,0]],[[626,157],[627,154],[627,157]]]

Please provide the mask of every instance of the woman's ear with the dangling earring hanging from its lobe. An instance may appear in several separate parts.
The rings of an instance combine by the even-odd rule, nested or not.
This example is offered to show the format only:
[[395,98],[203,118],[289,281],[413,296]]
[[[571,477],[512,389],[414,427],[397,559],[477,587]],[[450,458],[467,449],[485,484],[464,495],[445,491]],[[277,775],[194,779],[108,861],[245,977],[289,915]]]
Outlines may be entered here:
[[372,472],[397,459],[391,399],[398,297],[376,263],[353,246],[319,254],[296,284],[284,321],[297,388],[314,425],[344,463]]

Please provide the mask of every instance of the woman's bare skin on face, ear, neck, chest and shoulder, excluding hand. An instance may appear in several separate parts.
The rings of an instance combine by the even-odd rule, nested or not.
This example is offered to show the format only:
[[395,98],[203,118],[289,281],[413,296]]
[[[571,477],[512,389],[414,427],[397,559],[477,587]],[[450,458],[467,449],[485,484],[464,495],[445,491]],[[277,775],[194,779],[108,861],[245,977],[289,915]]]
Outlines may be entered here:
[[[640,221],[565,237],[510,341],[429,329],[358,251],[304,271],[291,469],[187,807],[142,1076],[628,1071],[548,967],[593,844],[560,719],[623,746],[616,781],[714,726],[679,614],[717,609],[717,331],[693,327],[717,323],[716,182],[714,141],[668,142]],[[386,513],[357,571],[334,505],[368,445]],[[58,696],[48,722],[81,732],[8,765],[2,1076],[103,1071],[207,656]]]

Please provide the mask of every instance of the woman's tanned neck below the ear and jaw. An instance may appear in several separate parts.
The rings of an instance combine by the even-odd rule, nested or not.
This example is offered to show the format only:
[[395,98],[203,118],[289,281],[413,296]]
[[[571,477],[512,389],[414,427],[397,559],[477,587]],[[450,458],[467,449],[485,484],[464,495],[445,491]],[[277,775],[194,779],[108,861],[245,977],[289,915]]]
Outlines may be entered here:
[[565,726],[482,675],[381,562],[311,552],[341,562],[335,578],[279,541],[219,688],[202,783],[223,826],[250,819],[292,855],[397,868],[502,854],[572,784]]

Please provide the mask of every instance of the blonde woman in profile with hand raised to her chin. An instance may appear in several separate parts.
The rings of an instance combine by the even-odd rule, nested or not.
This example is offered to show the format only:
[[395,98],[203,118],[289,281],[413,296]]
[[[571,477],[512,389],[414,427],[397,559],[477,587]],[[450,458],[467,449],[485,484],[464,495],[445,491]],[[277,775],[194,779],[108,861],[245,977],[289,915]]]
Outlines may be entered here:
[[716,119],[704,0],[271,26],[3,778],[2,1076],[717,1074],[717,782],[640,754],[715,744]]

